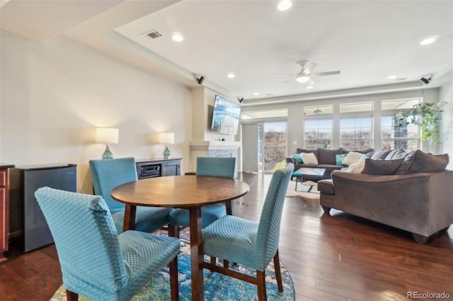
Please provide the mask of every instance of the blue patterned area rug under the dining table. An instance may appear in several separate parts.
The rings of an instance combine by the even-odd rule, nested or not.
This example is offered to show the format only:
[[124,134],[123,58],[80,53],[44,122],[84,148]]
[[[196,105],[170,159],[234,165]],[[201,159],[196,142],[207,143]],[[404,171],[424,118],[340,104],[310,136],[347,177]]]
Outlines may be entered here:
[[[298,185],[299,187],[299,185]],[[205,261],[209,261],[207,256]],[[266,290],[268,300],[294,300],[294,286],[286,266],[280,261],[283,281],[283,292],[279,293],[273,261],[266,269]],[[255,273],[245,266],[235,265],[236,271],[248,273],[255,276]],[[190,295],[190,245],[181,239],[181,250],[178,255],[178,280],[179,300],[191,300]],[[205,300],[258,300],[256,285],[240,281],[220,273],[210,272],[204,269],[205,279]],[[170,283],[168,268],[164,268],[149,283],[140,290],[131,300],[170,300]],[[50,299],[52,301],[66,300],[66,289],[62,285]],[[79,300],[88,300],[79,296]]]

